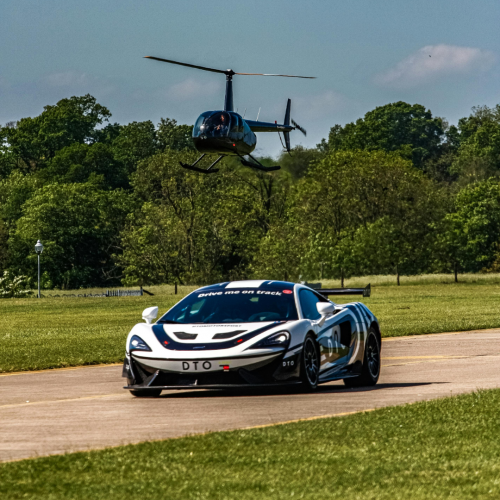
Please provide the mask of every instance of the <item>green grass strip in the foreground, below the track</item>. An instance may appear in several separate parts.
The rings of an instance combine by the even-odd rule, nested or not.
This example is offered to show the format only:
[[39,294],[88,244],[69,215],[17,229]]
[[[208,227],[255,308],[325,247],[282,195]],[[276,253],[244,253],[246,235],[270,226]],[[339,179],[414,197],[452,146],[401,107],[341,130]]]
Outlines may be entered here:
[[500,391],[0,465],[11,499],[500,497]]

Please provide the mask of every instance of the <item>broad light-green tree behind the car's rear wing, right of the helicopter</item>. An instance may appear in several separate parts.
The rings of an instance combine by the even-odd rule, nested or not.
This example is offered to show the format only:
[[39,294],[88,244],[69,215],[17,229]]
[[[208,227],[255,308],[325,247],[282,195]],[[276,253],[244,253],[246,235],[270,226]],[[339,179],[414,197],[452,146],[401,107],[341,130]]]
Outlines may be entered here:
[[[294,275],[314,279],[322,267],[335,278],[381,268],[418,271],[425,264],[425,234],[436,212],[434,192],[433,183],[396,154],[332,152],[298,184],[288,213],[293,229],[272,227],[274,241],[266,239],[259,258],[280,262],[278,255],[289,255],[289,250],[279,235],[290,242],[288,235],[295,234],[298,241],[290,246],[300,257],[290,259]],[[380,251],[373,239],[379,232],[393,235]],[[388,255],[393,257],[387,260]]]

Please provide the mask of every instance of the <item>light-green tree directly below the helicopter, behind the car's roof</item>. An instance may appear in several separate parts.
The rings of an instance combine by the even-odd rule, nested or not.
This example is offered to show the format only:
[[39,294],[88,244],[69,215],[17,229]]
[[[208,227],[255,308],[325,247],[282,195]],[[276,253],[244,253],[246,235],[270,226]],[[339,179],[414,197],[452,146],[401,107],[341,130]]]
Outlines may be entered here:
[[279,217],[286,198],[279,176],[235,172],[225,163],[216,176],[201,176],[179,166],[195,158],[166,149],[132,176],[142,208],[123,233],[128,283],[245,277],[259,239]]

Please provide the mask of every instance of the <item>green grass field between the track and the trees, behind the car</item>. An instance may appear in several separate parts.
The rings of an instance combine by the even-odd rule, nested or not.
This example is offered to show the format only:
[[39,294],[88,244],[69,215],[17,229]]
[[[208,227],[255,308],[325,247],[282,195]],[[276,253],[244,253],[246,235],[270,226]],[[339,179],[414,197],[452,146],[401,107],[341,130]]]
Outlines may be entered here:
[[[371,276],[346,286],[372,283],[372,297],[363,300],[378,317],[383,336],[414,335],[500,327],[500,276],[430,275],[403,278]],[[339,286],[323,282],[323,286]],[[150,288],[143,297],[70,297],[77,292],[46,292],[43,299],[0,300],[0,372],[39,370],[123,360],[125,338],[141,320],[142,310],[157,305],[167,310],[193,287]],[[60,295],[51,297],[49,295]]]

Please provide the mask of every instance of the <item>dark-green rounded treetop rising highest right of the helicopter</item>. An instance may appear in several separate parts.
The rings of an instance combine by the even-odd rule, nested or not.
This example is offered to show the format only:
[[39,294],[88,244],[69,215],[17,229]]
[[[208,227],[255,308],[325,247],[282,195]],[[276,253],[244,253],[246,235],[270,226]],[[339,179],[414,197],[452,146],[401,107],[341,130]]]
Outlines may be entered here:
[[420,104],[399,101],[369,111],[356,123],[335,125],[330,130],[328,147],[333,151],[398,152],[422,170],[425,161],[439,154],[443,138],[441,118],[434,118]]

